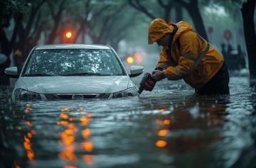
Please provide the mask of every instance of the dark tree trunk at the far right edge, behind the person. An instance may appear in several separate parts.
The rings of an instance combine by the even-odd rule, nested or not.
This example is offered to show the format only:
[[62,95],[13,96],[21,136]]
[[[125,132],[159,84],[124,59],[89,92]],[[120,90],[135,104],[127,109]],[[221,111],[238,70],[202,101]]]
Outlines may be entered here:
[[255,0],[248,0],[242,4],[241,11],[249,62],[250,79],[256,79],[256,34],[254,25]]

